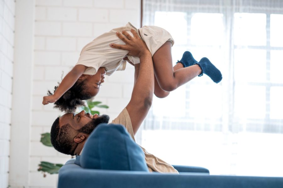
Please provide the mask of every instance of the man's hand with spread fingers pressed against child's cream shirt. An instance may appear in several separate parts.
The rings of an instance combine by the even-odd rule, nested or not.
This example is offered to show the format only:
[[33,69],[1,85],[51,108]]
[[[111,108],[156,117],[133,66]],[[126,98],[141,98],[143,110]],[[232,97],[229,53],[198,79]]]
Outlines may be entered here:
[[119,39],[124,41],[125,45],[120,44],[110,44],[112,48],[121,49],[121,50],[128,50],[128,55],[141,57],[145,53],[150,53],[147,49],[147,45],[145,42],[138,36],[134,29],[131,29],[131,33],[134,35],[132,37],[128,32],[122,31],[122,34],[117,32],[117,36]]

